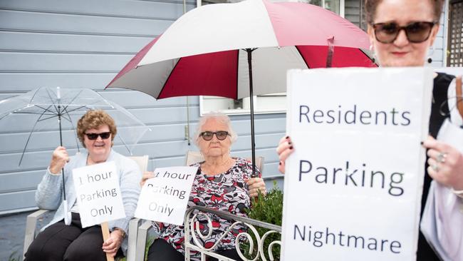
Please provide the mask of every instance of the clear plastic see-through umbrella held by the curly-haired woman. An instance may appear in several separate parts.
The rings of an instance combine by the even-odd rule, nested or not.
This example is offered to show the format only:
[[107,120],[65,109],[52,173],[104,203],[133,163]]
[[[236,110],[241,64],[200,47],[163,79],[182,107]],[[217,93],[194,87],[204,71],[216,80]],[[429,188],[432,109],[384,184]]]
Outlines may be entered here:
[[[2,135],[5,138],[1,142],[2,150],[8,148],[9,151],[2,160],[7,165],[4,168],[43,168],[50,161],[51,150],[58,145],[65,146],[70,154],[79,152],[76,124],[88,110],[104,110],[114,119],[118,127],[114,145],[130,155],[133,146],[150,130],[125,108],[93,90],[38,88],[0,101],[0,132],[8,133]],[[63,195],[66,200],[64,187]]]

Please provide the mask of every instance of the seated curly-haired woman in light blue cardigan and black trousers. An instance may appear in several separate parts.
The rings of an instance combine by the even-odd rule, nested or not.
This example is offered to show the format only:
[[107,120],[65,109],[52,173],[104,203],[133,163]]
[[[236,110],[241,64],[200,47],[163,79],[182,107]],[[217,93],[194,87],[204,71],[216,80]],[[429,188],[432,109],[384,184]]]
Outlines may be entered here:
[[[38,184],[36,203],[39,208],[56,210],[56,214],[43,231],[33,240],[25,254],[26,260],[106,260],[106,253],[123,255],[127,249],[125,240],[128,223],[137,207],[140,193],[141,173],[135,161],[116,153],[113,140],[117,128],[113,118],[104,111],[88,111],[77,123],[78,138],[88,153],[68,156],[66,148],[58,147],[53,151],[51,163]],[[120,193],[123,197],[125,218],[109,222],[111,230],[108,240],[103,242],[102,230],[98,225],[82,227],[80,222],[77,195],[74,190],[72,170],[85,165],[94,165],[114,161],[118,169]],[[71,224],[64,222],[66,209],[61,203],[63,184],[61,169],[64,168],[66,180],[66,198],[71,208]],[[101,178],[108,177],[101,175]],[[93,177],[90,177],[93,178]],[[93,181],[93,180],[90,180]],[[114,191],[97,190],[88,195],[88,200],[114,197]],[[60,204],[61,203],[61,204]],[[105,209],[110,210],[110,208]],[[123,244],[125,242],[125,244]],[[122,246],[122,247],[121,247]],[[121,249],[122,248],[122,249]]]

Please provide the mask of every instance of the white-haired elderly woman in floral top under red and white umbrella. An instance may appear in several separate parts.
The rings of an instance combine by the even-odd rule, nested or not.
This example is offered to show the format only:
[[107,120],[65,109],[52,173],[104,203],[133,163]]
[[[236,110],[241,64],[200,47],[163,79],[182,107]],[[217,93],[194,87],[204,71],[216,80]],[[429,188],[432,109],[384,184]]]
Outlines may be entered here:
[[[194,164],[198,172],[189,196],[189,206],[201,205],[245,217],[246,209],[251,207],[251,198],[256,197],[258,190],[266,192],[259,170],[256,170],[259,178],[251,178],[252,165],[249,160],[231,158],[230,146],[236,138],[228,116],[211,113],[201,118],[194,141],[204,161]],[[152,178],[152,173],[145,173],[142,183],[147,178]],[[204,247],[212,247],[231,225],[230,221],[216,215],[210,215],[210,218],[213,232],[211,237],[202,240]],[[199,219],[199,222],[204,231],[209,229],[207,220]],[[155,223],[154,226],[160,232],[160,237],[152,243],[148,260],[184,260],[184,227],[165,223]],[[234,242],[236,235],[243,229],[234,227],[222,238],[215,252],[239,260]],[[200,259],[198,252],[192,252],[190,257],[191,260]]]

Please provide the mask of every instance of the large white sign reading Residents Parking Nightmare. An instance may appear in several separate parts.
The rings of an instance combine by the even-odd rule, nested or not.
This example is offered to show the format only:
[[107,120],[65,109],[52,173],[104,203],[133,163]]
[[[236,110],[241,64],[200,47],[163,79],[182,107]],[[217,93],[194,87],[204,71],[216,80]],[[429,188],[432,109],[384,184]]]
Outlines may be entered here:
[[283,260],[415,260],[425,68],[288,72]]

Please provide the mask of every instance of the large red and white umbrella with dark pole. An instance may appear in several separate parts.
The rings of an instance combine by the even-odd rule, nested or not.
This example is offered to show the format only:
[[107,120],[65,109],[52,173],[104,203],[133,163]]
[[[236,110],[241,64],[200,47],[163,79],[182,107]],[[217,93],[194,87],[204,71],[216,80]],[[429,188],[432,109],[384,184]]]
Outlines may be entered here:
[[[107,87],[155,98],[244,98],[286,91],[291,68],[373,67],[368,36],[331,11],[296,2],[209,4],[177,19]],[[254,111],[251,99],[254,158]]]

